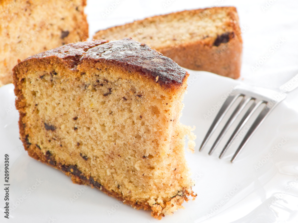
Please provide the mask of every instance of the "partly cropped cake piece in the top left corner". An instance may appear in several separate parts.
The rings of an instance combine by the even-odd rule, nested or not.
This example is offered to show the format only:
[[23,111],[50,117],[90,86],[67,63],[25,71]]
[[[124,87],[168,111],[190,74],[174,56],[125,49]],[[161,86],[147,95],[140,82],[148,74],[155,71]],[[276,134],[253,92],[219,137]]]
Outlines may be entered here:
[[18,59],[88,38],[86,0],[0,1],[0,87]]

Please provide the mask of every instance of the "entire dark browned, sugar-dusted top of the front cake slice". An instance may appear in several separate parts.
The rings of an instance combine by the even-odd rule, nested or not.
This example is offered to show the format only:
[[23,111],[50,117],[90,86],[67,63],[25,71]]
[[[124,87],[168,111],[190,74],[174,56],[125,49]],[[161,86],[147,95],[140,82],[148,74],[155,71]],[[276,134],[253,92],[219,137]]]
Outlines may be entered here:
[[[62,59],[70,69],[76,69],[82,60],[118,65],[128,72],[140,73],[163,87],[173,89],[181,86],[189,75],[172,59],[163,56],[144,43],[138,43],[129,38],[111,42],[94,40],[70,43],[30,56],[22,62],[30,59],[50,59],[50,57]],[[15,69],[16,67],[13,70]]]

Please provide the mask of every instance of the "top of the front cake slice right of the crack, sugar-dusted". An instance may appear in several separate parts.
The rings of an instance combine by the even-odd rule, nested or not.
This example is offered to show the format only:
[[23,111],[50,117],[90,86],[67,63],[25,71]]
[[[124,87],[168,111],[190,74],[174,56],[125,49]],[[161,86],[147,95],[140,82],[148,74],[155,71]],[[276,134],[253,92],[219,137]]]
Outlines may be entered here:
[[181,85],[188,76],[172,59],[129,38],[94,47],[82,57],[85,58],[117,64],[125,70],[142,73],[167,87]]

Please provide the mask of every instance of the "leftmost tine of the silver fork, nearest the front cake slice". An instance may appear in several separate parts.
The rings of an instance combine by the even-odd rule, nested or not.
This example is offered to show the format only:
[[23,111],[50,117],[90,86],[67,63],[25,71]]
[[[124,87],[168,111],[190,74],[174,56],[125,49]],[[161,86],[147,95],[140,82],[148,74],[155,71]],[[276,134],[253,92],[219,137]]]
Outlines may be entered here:
[[219,110],[218,114],[216,115],[212,125],[210,126],[201,146],[199,151],[201,151],[204,146],[206,145],[208,139],[210,138],[210,136],[213,134],[213,132],[215,131],[216,127],[218,126],[218,124],[220,123],[220,121],[223,119],[224,115],[227,113],[227,111],[229,110],[229,108],[232,106],[232,104],[235,102],[235,100],[237,100],[238,97],[243,96],[243,94],[236,94],[236,95],[230,95],[226,101],[224,102],[224,104],[222,105],[221,109]]

